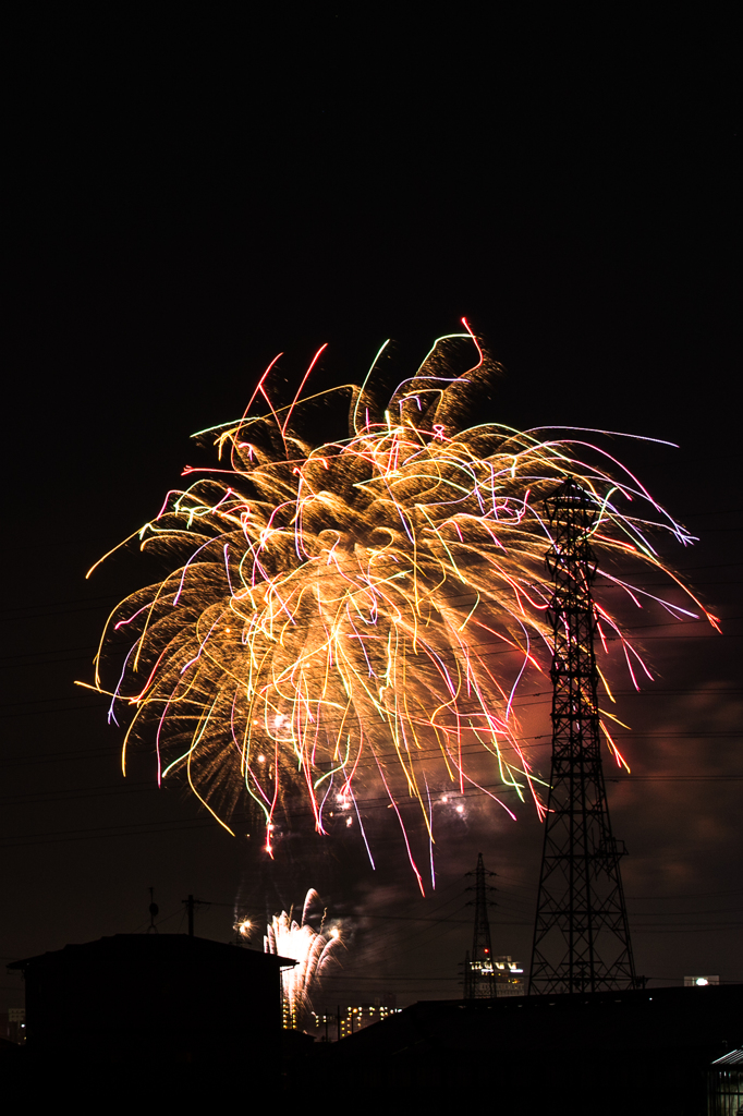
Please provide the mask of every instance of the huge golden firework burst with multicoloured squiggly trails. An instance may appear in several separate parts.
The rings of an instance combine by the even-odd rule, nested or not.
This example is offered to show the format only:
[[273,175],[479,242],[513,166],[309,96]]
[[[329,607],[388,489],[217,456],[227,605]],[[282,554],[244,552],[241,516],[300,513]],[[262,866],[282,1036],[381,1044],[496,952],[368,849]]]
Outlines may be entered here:
[[[464,343],[476,362],[453,376]],[[500,783],[543,809],[513,698],[524,672],[550,660],[546,497],[568,475],[582,485],[602,581],[636,603],[628,565],[665,569],[653,533],[691,539],[582,437],[472,425],[495,366],[471,333],[440,339],[388,401],[375,365],[361,387],[320,400],[348,407],[338,440],[308,433],[318,396],[277,410],[268,373],[240,421],[197,435],[218,464],[186,469],[193,483],[138,532],[171,573],[114,610],[102,648],[128,637],[106,692],[112,715],[134,714],[127,741],[154,743],[158,780],[183,775],[225,828],[249,796],[268,852],[290,798],[320,833],[340,806],[370,857],[361,807],[380,791],[421,882],[411,802],[431,849],[443,788],[509,809]],[[267,413],[250,415],[255,398]],[[634,679],[641,661],[600,593],[596,618]]]

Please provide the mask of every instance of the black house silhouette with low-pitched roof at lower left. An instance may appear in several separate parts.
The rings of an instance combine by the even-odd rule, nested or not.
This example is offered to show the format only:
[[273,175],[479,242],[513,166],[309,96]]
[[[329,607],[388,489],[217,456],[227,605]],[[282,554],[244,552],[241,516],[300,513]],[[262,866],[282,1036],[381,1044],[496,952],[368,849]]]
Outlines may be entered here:
[[185,934],[116,934],[8,968],[25,975],[29,1049],[189,1054],[278,1042],[280,970],[293,964]]

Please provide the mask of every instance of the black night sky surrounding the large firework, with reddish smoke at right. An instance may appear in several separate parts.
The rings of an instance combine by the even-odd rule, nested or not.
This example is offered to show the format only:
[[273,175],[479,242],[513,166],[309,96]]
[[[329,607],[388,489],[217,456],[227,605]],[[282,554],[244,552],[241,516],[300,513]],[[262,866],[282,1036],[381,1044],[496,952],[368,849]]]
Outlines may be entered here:
[[[425,901],[392,840],[374,875],[309,835],[270,864],[154,789],[146,754],[124,782],[119,733],[73,685],[146,579],[136,558],[86,569],[156,513],[189,435],[241,413],[276,353],[291,383],[328,341],[319,375],[345,383],[393,337],[407,375],[466,315],[505,368],[493,421],[679,444],[621,453],[698,533],[665,556],[724,635],[633,622],[655,625],[638,638],[659,676],[621,699],[635,778],[610,805],[638,970],[743,980],[732,27],[619,9],[89,17],[12,29],[2,959],[143,929],[151,885],[163,930],[193,893],[213,904],[197,932],[221,940],[235,902],[260,920],[317,886],[347,927],[334,1002],[456,995],[483,852],[494,945],[528,960],[528,809],[453,817]],[[522,705],[524,732],[549,733],[548,695],[530,684]]]

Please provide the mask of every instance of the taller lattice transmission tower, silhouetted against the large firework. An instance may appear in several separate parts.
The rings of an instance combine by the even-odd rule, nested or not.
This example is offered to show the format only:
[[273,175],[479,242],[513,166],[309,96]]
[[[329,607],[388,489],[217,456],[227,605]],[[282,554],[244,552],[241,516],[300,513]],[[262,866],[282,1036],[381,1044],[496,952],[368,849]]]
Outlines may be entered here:
[[626,849],[611,834],[601,767],[589,542],[599,508],[572,478],[546,506],[553,539],[552,769],[529,993],[637,988],[619,872]]

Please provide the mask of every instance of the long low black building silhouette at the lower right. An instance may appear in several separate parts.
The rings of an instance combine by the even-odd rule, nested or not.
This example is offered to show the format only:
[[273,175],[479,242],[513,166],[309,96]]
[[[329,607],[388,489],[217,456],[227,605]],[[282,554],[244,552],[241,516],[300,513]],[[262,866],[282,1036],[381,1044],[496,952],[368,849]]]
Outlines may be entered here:
[[715,1058],[710,1088],[740,1103],[740,1050],[723,1056],[742,1045],[743,984],[565,992],[415,1003],[329,1043],[318,1068],[340,1095],[385,1106],[701,1116]]

